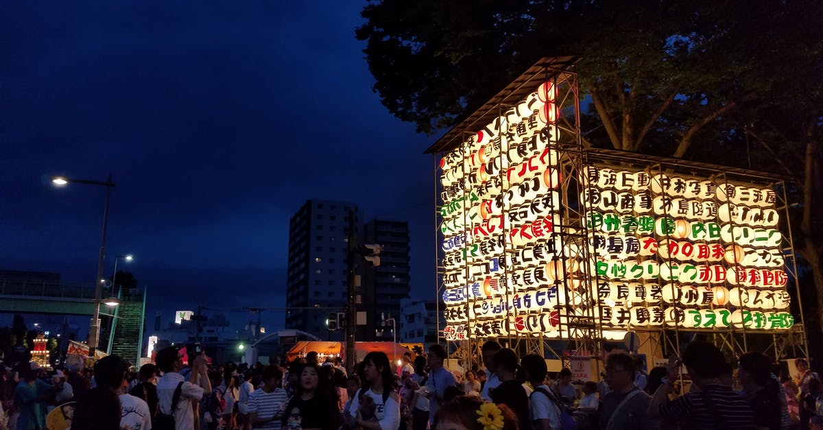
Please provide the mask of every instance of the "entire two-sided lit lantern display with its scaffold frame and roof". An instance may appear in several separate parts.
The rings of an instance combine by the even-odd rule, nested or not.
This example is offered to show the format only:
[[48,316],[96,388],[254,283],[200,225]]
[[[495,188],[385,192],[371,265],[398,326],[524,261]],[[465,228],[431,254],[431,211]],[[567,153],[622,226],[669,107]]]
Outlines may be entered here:
[[585,146],[578,59],[542,58],[427,150],[439,335],[468,367],[488,339],[561,359],[695,336],[806,357],[782,178]]

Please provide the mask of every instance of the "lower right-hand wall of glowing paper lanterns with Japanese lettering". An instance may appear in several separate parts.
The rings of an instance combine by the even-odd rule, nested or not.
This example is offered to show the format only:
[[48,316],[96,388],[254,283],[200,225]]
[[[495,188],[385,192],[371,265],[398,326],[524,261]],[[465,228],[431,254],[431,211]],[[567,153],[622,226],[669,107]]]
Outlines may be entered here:
[[603,325],[793,325],[772,189],[596,166],[579,180]]

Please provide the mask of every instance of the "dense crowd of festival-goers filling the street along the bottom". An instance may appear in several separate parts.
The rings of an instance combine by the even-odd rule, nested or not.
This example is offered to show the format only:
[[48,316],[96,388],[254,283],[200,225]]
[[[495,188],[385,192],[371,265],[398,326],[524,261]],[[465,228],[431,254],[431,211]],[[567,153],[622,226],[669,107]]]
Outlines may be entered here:
[[518,358],[495,341],[481,354],[482,367],[455,371],[438,344],[398,366],[372,352],[351,374],[317,353],[249,367],[205,354],[184,364],[174,347],[139,372],[115,355],[93,372],[0,366],[0,430],[52,428],[46,414],[69,401],[64,418],[82,430],[823,428],[820,377],[802,359],[794,378],[780,378],[761,353],[735,369],[713,344],[693,342],[648,374],[637,358],[610,353],[597,382],[548,372],[541,356]]

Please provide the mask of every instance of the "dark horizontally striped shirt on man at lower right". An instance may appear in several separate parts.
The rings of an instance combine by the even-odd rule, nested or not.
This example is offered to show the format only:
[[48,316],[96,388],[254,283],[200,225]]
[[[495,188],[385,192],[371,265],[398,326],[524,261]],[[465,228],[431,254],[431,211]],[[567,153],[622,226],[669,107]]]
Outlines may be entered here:
[[751,429],[754,414],[746,400],[728,386],[704,386],[702,390],[681,395],[660,405],[660,415],[687,428]]

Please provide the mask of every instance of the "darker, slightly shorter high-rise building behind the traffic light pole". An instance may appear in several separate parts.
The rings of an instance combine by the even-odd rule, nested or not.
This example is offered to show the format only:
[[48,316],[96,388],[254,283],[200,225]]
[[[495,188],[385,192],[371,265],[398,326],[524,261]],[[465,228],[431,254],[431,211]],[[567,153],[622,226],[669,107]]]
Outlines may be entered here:
[[[363,304],[366,311],[365,339],[392,341],[392,324],[384,325],[384,320],[394,318],[400,330],[400,301],[408,297],[409,273],[409,227],[405,221],[374,219],[363,227],[363,243],[383,246],[380,265],[372,267],[363,264]],[[373,337],[374,336],[374,337]]]

